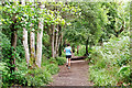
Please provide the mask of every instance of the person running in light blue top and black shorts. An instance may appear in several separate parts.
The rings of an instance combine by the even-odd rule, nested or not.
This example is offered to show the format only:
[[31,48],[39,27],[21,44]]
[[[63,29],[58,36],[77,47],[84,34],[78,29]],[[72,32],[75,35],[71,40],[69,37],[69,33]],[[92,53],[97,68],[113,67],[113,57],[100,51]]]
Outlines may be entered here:
[[66,58],[67,58],[67,64],[66,66],[68,66],[68,69],[70,68],[70,58],[72,58],[72,47],[70,44],[67,44],[67,47],[65,47],[64,52],[66,52]]

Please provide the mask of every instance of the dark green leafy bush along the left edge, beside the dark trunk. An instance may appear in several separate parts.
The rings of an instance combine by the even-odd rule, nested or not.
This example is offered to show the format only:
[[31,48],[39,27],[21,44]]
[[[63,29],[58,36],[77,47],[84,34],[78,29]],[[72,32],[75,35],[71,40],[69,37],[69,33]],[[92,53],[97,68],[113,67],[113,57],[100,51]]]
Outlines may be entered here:
[[[14,84],[23,84],[25,80],[24,77],[21,75],[20,72],[10,72],[11,64],[11,43],[7,35],[0,32],[0,38],[1,38],[1,47],[2,51],[0,51],[2,62],[0,63],[0,69],[2,70],[2,87],[6,86],[12,86]],[[15,58],[20,58],[18,52],[14,53]]]

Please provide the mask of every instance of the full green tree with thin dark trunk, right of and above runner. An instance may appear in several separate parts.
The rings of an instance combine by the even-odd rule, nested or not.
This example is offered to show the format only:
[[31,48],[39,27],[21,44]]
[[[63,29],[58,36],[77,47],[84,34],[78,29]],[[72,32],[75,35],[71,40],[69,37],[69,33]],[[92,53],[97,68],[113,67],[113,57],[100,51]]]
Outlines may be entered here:
[[[86,55],[88,55],[88,45],[98,43],[102,29],[105,28],[108,19],[107,12],[101,8],[102,3],[80,2],[78,7],[81,9],[80,16],[74,18],[72,26],[65,33],[72,42],[86,45]],[[73,38],[74,37],[74,38]]]

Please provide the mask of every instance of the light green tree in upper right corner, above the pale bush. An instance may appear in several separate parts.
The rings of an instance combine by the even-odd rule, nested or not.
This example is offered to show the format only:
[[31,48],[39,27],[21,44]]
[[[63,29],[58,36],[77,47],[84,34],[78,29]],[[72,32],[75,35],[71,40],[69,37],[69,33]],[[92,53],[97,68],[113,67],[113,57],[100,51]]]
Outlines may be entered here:
[[129,28],[129,2],[103,2],[102,8],[108,12],[108,23],[103,29],[103,34],[100,41],[108,41],[112,35],[119,36]]

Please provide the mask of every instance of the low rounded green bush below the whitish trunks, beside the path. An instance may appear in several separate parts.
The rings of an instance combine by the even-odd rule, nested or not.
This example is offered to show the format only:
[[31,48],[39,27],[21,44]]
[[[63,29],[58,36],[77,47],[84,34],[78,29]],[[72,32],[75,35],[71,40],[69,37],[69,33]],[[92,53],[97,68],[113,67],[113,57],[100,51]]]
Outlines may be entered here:
[[28,75],[25,75],[28,86],[45,86],[52,81],[51,74],[41,68],[29,69]]

